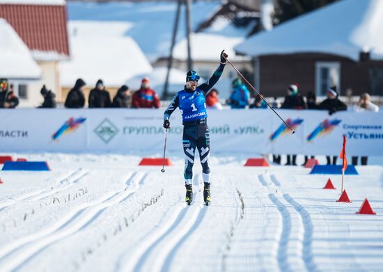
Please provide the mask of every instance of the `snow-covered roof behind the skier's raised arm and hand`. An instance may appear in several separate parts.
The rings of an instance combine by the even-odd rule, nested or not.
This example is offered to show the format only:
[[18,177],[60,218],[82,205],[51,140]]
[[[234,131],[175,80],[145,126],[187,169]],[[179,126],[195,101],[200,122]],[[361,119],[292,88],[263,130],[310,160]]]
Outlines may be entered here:
[[[219,54],[225,49],[233,61],[249,59],[246,56],[235,56],[234,47],[244,41],[240,37],[227,37],[210,33],[192,33],[192,58],[194,61],[217,61]],[[174,47],[173,57],[182,61],[187,60],[187,39],[184,38]]]

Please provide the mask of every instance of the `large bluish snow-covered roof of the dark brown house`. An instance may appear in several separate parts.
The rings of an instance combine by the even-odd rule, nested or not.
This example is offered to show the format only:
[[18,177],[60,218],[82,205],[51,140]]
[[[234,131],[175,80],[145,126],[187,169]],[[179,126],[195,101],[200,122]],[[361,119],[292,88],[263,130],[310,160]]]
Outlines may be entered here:
[[359,60],[383,58],[383,1],[343,0],[253,35],[235,51],[250,56],[324,53]]

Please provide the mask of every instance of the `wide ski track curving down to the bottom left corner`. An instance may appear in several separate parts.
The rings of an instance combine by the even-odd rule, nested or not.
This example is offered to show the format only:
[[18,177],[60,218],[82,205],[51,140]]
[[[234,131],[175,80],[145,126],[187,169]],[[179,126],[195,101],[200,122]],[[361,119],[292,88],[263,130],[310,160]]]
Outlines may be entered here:
[[139,182],[134,182],[137,175],[136,173],[130,175],[125,185],[129,184],[133,186],[132,189],[126,187],[125,190],[120,193],[111,192],[101,198],[98,201],[88,202],[85,205],[79,205],[77,209],[72,210],[70,214],[63,217],[61,221],[54,224],[51,227],[47,227],[44,230],[35,234],[28,235],[22,239],[18,239],[13,243],[4,246],[0,250],[0,270],[1,271],[15,271],[42,250],[52,245],[53,243],[69,237],[71,234],[83,229],[91,224],[102,211],[125,201],[140,185],[143,184],[144,179],[148,177],[148,173],[143,175]]

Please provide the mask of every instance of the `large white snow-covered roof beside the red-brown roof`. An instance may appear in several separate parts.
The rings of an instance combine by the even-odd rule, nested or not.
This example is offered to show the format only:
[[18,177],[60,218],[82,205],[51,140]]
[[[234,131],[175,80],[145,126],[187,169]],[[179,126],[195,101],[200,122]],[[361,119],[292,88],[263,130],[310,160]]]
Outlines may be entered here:
[[61,82],[71,87],[82,78],[88,86],[103,79],[106,86],[121,86],[152,66],[134,40],[127,35],[131,24],[124,22],[68,23],[71,60],[61,65]]

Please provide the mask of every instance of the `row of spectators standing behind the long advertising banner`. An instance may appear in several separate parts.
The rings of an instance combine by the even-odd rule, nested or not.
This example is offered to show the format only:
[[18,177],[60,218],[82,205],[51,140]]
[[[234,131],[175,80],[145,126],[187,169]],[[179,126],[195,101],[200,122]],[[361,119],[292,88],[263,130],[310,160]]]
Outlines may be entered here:
[[[82,79],[77,79],[75,86],[69,91],[68,96],[65,99],[65,108],[68,109],[80,109],[85,106],[84,90],[86,88],[86,82]],[[52,93],[52,90],[48,90],[44,85],[42,86],[40,93],[44,98],[41,106],[38,108],[56,108],[56,95]],[[13,91],[12,84],[8,85],[7,79],[0,79],[0,108],[14,109],[19,104],[19,99]],[[339,94],[336,86],[329,88],[326,92],[326,99],[318,104],[316,101],[316,95],[312,91],[309,91],[304,98],[299,93],[298,84],[291,84],[287,88],[286,97],[281,103],[277,97],[274,97],[274,101],[270,103],[275,109],[295,109],[295,110],[324,110],[328,111],[329,115],[336,113],[337,111],[347,111],[347,105],[339,99]],[[262,95],[256,94],[253,102],[251,103],[251,93],[247,86],[242,82],[240,78],[232,81],[232,92],[230,97],[226,99],[226,105],[231,109],[267,109],[267,103]],[[219,99],[219,91],[212,89],[206,96],[206,106],[208,109],[223,109],[223,105]],[[150,88],[150,79],[147,77],[141,81],[141,88],[134,93],[126,85],[121,86],[113,99],[111,99],[109,91],[105,89],[104,82],[99,79],[95,84],[88,97],[89,108],[134,108],[134,109],[159,109],[160,101],[155,90]],[[373,104],[370,100],[368,93],[363,93],[359,97],[359,101],[354,106],[354,111],[379,111],[379,106]],[[311,156],[313,159],[314,156]],[[332,158],[327,156],[327,164],[336,164],[338,157]],[[357,165],[358,157],[352,157],[352,164]],[[308,160],[308,156],[304,157],[304,163]],[[361,157],[361,164],[366,165],[368,161],[367,157]],[[273,162],[281,164],[281,155],[274,154]],[[297,154],[288,154],[286,156],[287,166],[297,165]]]

